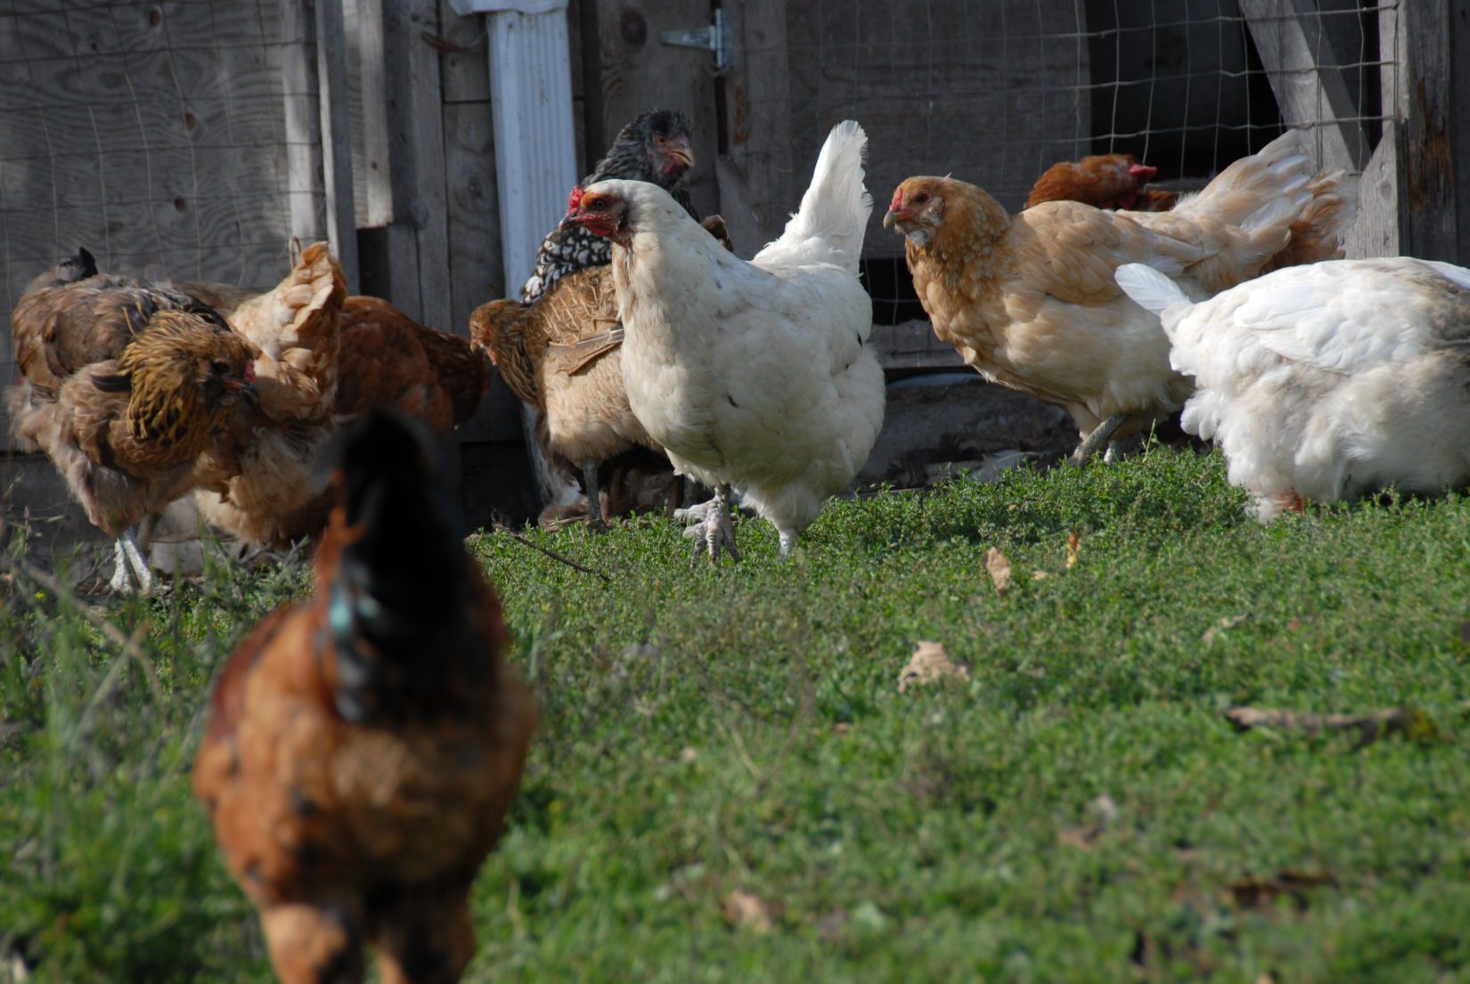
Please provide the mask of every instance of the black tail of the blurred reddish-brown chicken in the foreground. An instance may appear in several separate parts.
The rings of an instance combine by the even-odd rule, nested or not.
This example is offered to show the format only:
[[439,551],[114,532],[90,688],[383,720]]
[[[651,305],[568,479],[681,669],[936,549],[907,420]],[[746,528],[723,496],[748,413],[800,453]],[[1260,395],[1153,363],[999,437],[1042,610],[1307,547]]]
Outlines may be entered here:
[[415,420],[373,411],[345,430],[328,536],[343,543],[331,580],[338,712],[403,717],[453,699],[484,649],[467,614],[473,579],[441,449]]

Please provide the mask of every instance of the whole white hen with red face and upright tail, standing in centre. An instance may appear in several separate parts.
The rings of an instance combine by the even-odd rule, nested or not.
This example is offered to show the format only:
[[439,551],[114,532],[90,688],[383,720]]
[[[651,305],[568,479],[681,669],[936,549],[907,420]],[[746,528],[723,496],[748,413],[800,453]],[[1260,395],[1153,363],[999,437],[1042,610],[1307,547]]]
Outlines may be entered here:
[[750,263],[657,185],[600,181],[569,219],[613,242],[623,385],[675,470],[714,488],[695,560],[735,549],[731,488],[781,533],[781,557],[844,491],[883,423],[873,308],[857,279],[873,201],[867,137],[828,135],[801,210]]

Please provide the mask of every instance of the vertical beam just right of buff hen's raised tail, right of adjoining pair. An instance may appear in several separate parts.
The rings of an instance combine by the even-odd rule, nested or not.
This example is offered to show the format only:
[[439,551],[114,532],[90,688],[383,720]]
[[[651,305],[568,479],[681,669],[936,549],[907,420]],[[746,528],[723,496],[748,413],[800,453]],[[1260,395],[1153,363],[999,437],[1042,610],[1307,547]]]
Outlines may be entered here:
[[320,93],[322,173],[326,185],[326,238],[357,291],[357,222],[353,214],[353,137],[347,103],[347,35],[343,0],[316,3],[316,84]]

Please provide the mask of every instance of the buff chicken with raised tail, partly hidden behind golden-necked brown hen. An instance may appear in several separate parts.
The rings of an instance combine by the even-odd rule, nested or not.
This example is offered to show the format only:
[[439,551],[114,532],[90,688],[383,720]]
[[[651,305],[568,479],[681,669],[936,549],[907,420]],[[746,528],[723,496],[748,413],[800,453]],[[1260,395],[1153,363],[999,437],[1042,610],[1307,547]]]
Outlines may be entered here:
[[201,483],[194,493],[200,515],[248,543],[284,545],[318,532],[323,489],[316,463],[335,429],[347,297],[341,267],[328,245],[316,242],[270,291],[207,283],[179,289],[219,308],[257,352],[260,379],[256,413],[238,423],[226,449],[200,464],[203,474],[234,476],[223,491]]

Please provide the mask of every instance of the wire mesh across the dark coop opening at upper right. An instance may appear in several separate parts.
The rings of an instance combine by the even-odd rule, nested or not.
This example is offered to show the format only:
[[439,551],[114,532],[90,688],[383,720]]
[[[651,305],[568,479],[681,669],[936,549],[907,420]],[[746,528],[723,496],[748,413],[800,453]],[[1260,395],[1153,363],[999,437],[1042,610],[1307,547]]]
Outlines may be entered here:
[[[1363,129],[1351,170],[1376,145],[1380,78],[1392,66],[1379,21],[1401,1],[1317,0],[1305,15],[1314,62],[1335,62],[1354,116],[1326,109],[1311,65],[1276,66],[1277,84],[1316,79],[1317,113],[1302,119],[1298,109],[1292,125],[1317,135],[1319,160],[1323,132],[1344,119]],[[1267,7],[1257,31],[1298,16],[1285,1],[1254,6]],[[1060,160],[1130,153],[1158,167],[1155,187],[1197,188],[1285,126],[1239,0],[816,0],[788,6],[784,47],[794,194],[832,123],[851,116],[867,128],[878,207],[864,275],[879,323],[923,317],[901,239],[879,226],[908,175],[953,173],[1014,211]],[[761,112],[759,101],[750,112]]]

